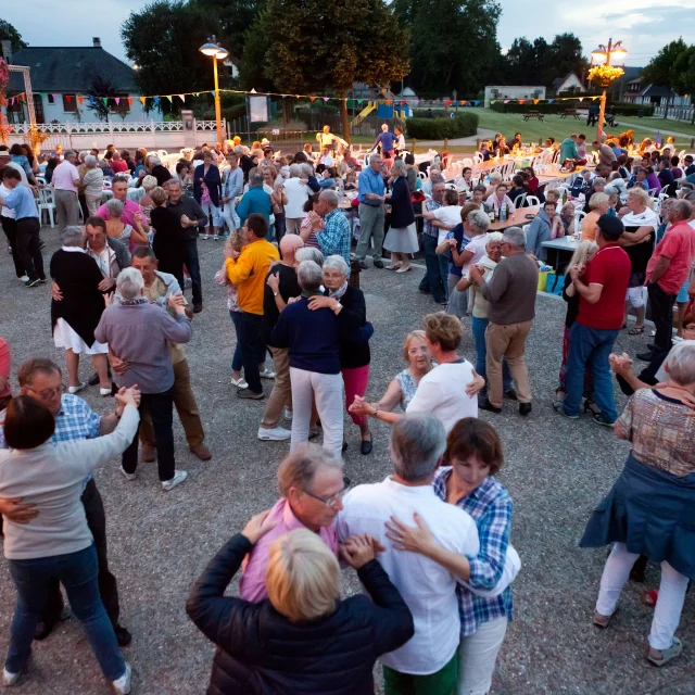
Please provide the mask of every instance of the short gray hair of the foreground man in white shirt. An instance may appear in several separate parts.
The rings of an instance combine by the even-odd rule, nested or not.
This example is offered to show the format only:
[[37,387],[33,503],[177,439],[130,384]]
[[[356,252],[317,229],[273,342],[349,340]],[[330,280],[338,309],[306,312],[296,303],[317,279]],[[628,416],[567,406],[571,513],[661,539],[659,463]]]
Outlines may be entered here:
[[406,482],[425,482],[446,448],[442,421],[432,415],[404,415],[391,428],[393,469]]

